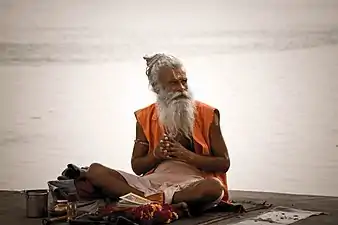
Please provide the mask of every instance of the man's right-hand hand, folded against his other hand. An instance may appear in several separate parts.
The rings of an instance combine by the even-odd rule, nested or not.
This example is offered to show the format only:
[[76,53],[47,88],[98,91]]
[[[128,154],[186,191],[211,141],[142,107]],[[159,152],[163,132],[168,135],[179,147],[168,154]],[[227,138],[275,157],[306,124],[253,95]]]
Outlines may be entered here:
[[169,141],[168,156],[170,159],[179,160],[185,163],[191,163],[196,154],[183,147],[179,142]]

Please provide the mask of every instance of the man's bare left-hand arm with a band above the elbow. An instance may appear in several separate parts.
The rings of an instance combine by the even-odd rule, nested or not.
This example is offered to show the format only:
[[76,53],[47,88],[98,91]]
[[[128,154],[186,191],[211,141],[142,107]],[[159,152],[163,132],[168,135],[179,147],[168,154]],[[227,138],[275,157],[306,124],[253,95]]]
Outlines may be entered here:
[[137,175],[150,171],[158,164],[153,154],[148,154],[149,144],[141,125],[136,123],[136,140],[131,158],[131,167]]

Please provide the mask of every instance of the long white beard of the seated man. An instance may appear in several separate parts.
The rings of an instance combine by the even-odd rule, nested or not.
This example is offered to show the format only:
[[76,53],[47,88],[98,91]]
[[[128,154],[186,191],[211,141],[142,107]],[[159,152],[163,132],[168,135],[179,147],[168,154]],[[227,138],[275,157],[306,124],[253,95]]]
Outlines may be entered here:
[[192,138],[195,121],[195,104],[190,92],[166,92],[157,95],[159,122],[168,136],[183,135]]

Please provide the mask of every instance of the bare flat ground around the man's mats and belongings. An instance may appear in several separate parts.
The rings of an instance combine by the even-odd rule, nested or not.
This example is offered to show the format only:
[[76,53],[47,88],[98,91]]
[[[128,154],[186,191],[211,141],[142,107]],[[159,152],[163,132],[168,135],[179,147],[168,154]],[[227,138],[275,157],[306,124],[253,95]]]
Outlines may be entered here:
[[[326,212],[329,215],[310,217],[294,223],[295,225],[337,225],[338,224],[338,197],[302,196],[262,192],[231,191],[232,199],[236,201],[267,201],[275,206],[288,206],[304,210]],[[256,211],[244,214],[241,217],[219,221],[215,224],[229,224],[243,218],[255,216]],[[174,224],[198,224],[198,220],[177,221]],[[40,219],[25,218],[25,198],[18,192],[0,191],[0,225],[38,225]]]

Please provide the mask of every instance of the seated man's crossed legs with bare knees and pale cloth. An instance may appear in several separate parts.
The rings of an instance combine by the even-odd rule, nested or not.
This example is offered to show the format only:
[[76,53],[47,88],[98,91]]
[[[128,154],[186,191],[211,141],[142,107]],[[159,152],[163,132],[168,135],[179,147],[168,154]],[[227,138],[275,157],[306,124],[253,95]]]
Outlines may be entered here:
[[[91,164],[84,176],[110,197],[118,198],[131,192],[151,199],[147,193],[147,189],[151,189],[148,185],[151,182],[146,176],[118,172],[98,163]],[[165,203],[185,202],[193,211],[204,211],[216,206],[224,194],[222,184],[215,178],[195,179],[190,183],[185,182],[183,187],[173,185],[162,191]]]

